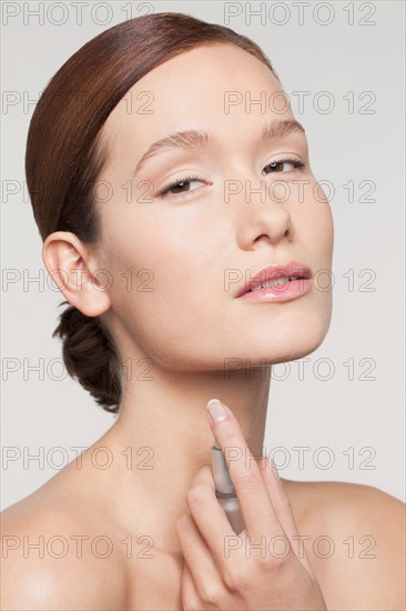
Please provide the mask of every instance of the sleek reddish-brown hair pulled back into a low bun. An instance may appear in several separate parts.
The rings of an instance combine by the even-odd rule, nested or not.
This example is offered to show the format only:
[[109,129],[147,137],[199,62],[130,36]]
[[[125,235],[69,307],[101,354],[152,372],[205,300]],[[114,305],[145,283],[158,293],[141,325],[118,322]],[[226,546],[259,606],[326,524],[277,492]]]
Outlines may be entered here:
[[[148,72],[182,52],[221,42],[255,56],[277,78],[267,57],[248,38],[170,12],[130,19],[105,30],[59,69],[35,107],[27,140],[27,183],[42,240],[54,231],[71,231],[88,246],[100,242],[94,186],[106,161],[100,146],[103,123]],[[118,412],[122,365],[105,324],[73,306],[59,318],[53,337],[63,341],[69,374],[103,409]]]

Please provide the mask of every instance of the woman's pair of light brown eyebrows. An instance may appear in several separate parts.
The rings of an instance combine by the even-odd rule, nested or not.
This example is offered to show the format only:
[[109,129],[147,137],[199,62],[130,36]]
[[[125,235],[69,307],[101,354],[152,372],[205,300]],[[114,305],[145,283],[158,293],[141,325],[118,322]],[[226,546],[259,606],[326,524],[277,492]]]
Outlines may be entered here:
[[[276,138],[286,138],[294,132],[305,133],[304,127],[298,121],[271,121],[263,127],[261,140],[266,142],[268,140],[275,140]],[[186,130],[171,133],[170,136],[166,136],[165,138],[162,138],[151,144],[138,162],[133,177],[141,171],[148,159],[151,159],[162,152],[173,149],[187,150],[207,148],[211,144],[214,144],[214,142],[215,139],[207,131]]]

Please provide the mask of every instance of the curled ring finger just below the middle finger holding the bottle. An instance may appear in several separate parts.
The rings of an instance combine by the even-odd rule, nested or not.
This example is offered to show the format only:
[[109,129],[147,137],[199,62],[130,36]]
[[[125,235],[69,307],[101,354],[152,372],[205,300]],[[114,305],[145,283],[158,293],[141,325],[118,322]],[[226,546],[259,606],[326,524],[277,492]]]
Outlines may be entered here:
[[[176,533],[194,588],[202,600],[207,600],[210,589],[213,584],[220,585],[222,580],[192,515],[185,514],[177,520]],[[191,589],[190,584],[187,588]]]

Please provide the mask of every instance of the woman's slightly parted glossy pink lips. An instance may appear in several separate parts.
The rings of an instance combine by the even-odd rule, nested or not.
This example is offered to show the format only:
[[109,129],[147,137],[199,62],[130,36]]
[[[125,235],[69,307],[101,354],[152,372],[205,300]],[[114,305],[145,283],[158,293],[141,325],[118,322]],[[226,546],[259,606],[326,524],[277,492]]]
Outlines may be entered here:
[[[248,273],[248,270],[247,270]],[[253,278],[245,280],[243,286],[236,292],[235,298],[244,297],[247,294],[256,296],[282,296],[285,293],[287,298],[294,289],[297,292],[297,289],[305,286],[309,286],[312,270],[303,263],[297,261],[290,261],[285,264],[273,263],[262,269]]]

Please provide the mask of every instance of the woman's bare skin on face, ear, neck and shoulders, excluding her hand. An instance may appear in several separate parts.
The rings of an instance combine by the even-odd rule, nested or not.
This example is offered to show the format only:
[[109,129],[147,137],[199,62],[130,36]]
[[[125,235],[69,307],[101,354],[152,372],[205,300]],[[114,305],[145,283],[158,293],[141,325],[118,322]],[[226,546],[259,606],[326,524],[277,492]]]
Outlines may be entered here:
[[[213,431],[205,413],[207,400],[216,397],[231,408],[257,460],[264,442],[270,368],[266,375],[252,369],[248,381],[242,369],[227,378],[224,359],[250,359],[252,368],[261,359],[298,359],[322,343],[331,320],[332,296],[326,291],[315,289],[285,303],[248,304],[234,297],[243,277],[225,290],[225,270],[254,274],[271,262],[290,260],[314,272],[332,267],[332,214],[327,200],[321,202],[321,193],[314,197],[316,179],[305,134],[297,130],[267,142],[260,138],[270,120],[294,121],[292,111],[281,117],[268,108],[262,114],[258,107],[246,112],[242,104],[224,112],[226,91],[250,91],[257,99],[261,91],[271,98],[281,89],[270,70],[245,51],[227,44],[204,47],[173,58],[132,88],[133,104],[140,104],[139,94],[153,94],[153,113],[141,114],[134,107],[129,113],[122,101],[109,117],[103,142],[110,157],[100,178],[109,181],[113,197],[99,206],[102,242],[89,248],[71,233],[57,232],[44,242],[43,260],[48,271],[64,270],[71,280],[61,283],[65,299],[87,315],[103,317],[122,361],[130,359],[135,369],[125,379],[116,423],[84,452],[81,463],[72,462],[3,512],[2,534],[16,535],[16,547],[21,541],[2,562],[6,609],[183,608],[179,520],[193,514],[187,494],[202,478],[210,501]],[[161,151],[132,177],[153,142],[203,129],[216,142]],[[282,164],[276,177],[264,171],[287,157],[307,166],[294,170]],[[199,179],[187,183],[185,196],[161,194],[172,179],[186,183],[189,174]],[[307,180],[304,201],[292,188],[284,202],[277,201],[276,189],[276,201],[264,203],[253,194],[247,202],[246,192],[240,192],[225,203],[226,180],[248,180],[257,189],[261,180],[270,183],[275,178],[291,187],[293,180]],[[122,188],[129,180],[131,201]],[[152,186],[146,196],[152,202],[144,201],[145,184]],[[78,268],[83,271],[80,289],[71,272]],[[114,279],[108,290],[100,290],[100,269]],[[129,290],[122,281],[129,269],[138,284],[145,277],[136,280],[136,272],[150,270],[153,291]],[[153,363],[149,383],[136,370],[141,359]],[[92,462],[98,447],[109,448],[114,457],[109,469]],[[145,468],[149,464],[153,469]],[[309,538],[305,549],[326,609],[404,609],[400,501],[369,487],[337,482],[283,480],[283,513],[292,511],[297,531]],[[206,519],[214,523],[211,511]],[[31,552],[23,558],[23,535],[34,540],[39,534],[45,541],[64,537],[72,543],[69,553],[57,559],[57,548],[53,555],[45,551],[43,559]],[[89,537],[81,558],[72,535]],[[318,553],[313,548],[323,535],[335,545],[329,558],[322,558],[323,545]],[[105,552],[102,541],[91,549],[97,537],[113,542],[105,559],[100,558]],[[354,558],[349,543],[343,543],[349,537]],[[362,558],[368,543],[359,543],[362,537],[376,541],[369,552],[375,558]],[[130,541],[133,549],[126,558]]]

